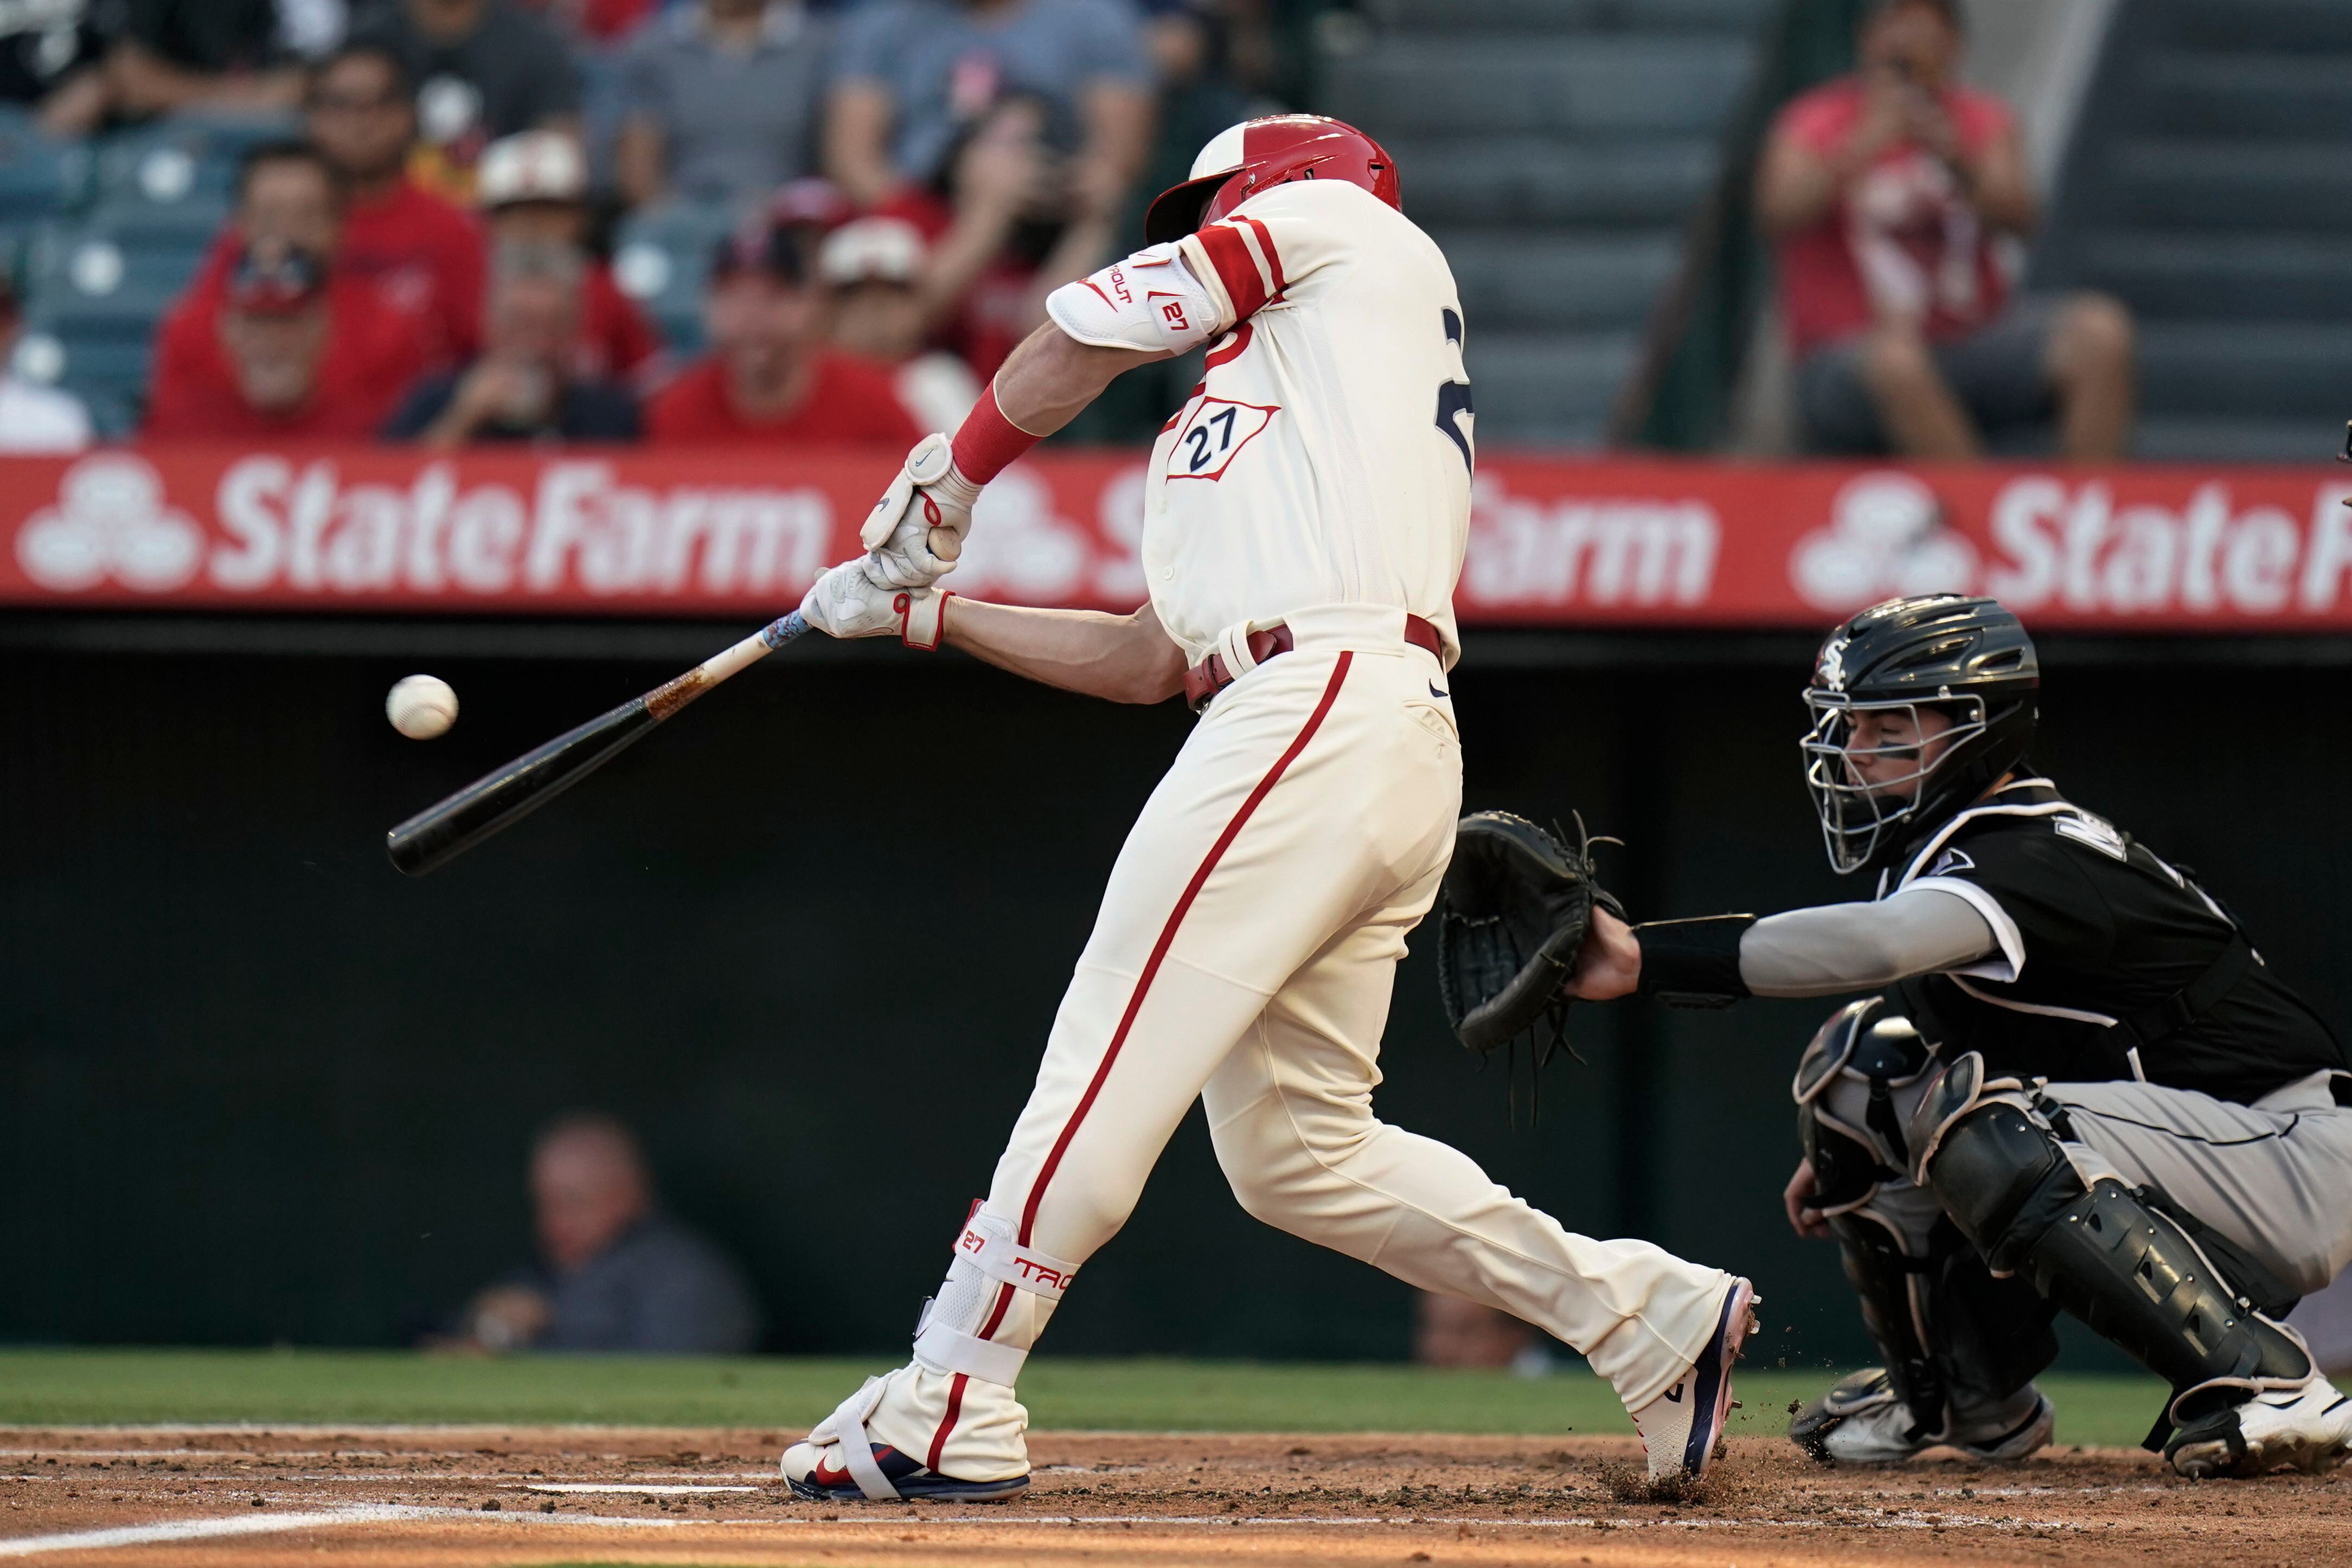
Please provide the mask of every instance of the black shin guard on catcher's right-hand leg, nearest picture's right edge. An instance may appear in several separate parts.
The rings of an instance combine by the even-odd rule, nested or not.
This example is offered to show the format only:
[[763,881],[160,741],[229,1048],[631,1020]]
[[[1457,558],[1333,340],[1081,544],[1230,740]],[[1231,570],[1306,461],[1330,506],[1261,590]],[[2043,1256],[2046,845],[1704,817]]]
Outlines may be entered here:
[[2265,1316],[2178,1220],[2114,1178],[2084,1185],[2020,1084],[1983,1084],[1973,1051],[1947,1079],[1915,1121],[1926,1185],[1994,1272],[2023,1274],[2171,1382],[2169,1425],[2194,1427],[2314,1380],[2303,1340]]

